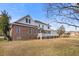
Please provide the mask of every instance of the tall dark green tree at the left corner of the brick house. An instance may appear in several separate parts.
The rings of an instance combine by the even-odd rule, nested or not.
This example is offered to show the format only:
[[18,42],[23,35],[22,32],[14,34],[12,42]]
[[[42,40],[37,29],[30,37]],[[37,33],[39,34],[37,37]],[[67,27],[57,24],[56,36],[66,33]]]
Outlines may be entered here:
[[8,15],[8,12],[1,11],[0,15],[0,30],[3,32],[6,39],[11,40],[9,31],[10,31],[10,21],[11,17]]

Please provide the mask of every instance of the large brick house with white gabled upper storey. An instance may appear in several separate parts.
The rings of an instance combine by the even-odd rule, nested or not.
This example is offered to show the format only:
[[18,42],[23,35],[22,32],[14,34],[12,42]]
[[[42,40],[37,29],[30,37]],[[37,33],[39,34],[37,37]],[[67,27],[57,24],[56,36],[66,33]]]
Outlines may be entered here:
[[38,33],[49,33],[50,25],[33,20],[27,15],[11,24],[10,36],[12,40],[35,39]]

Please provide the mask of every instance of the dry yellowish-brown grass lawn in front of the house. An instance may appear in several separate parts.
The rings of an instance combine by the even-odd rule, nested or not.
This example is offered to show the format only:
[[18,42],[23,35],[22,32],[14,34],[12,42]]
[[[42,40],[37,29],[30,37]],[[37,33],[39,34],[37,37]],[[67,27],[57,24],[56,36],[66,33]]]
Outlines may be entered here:
[[78,38],[0,41],[1,56],[79,56]]

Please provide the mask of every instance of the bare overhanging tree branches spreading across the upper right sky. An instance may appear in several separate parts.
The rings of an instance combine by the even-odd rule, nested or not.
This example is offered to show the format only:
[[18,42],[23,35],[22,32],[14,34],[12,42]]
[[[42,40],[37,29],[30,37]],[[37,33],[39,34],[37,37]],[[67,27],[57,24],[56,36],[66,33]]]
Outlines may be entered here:
[[79,3],[49,3],[46,15],[52,22],[79,27]]

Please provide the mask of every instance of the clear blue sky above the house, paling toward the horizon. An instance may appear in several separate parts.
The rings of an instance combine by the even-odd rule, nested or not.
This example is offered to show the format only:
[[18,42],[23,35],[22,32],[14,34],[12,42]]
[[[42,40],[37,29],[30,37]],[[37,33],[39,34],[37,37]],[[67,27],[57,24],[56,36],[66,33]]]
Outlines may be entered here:
[[[23,16],[30,15],[34,20],[49,23],[52,29],[58,29],[62,24],[51,22],[46,17],[44,10],[45,4],[42,3],[0,3],[0,11],[6,10],[12,17],[10,22],[17,21]],[[64,25],[67,31],[75,31],[72,26]],[[78,31],[79,29],[77,29]]]

